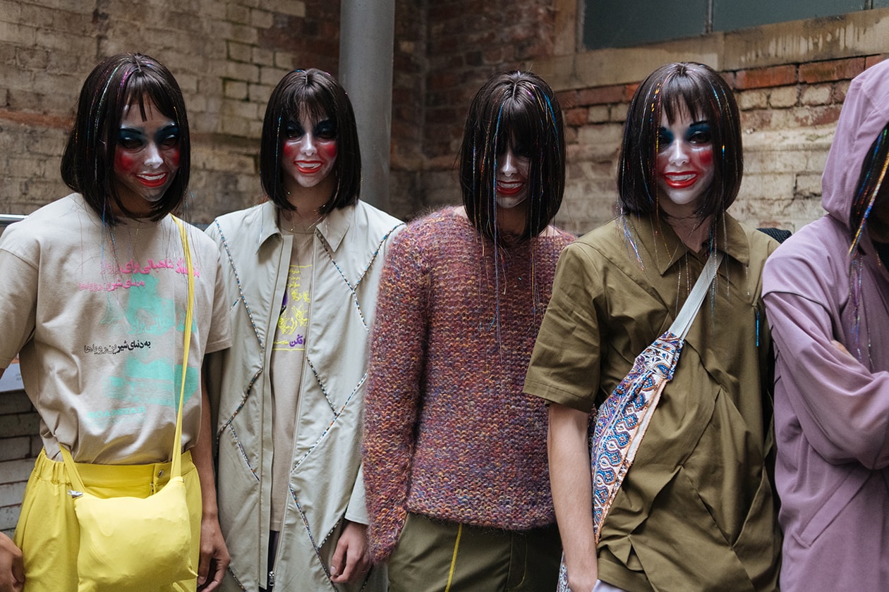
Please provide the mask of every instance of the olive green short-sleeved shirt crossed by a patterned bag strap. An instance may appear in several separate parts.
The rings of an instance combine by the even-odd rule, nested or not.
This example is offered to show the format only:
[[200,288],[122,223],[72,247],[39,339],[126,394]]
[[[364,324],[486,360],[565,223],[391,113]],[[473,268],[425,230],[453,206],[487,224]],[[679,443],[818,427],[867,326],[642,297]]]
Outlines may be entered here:
[[[599,578],[630,592],[775,590],[771,352],[760,278],[777,243],[728,214],[727,257],[685,338],[599,541]],[[566,248],[525,392],[591,411],[669,329],[709,249],[620,217]]]

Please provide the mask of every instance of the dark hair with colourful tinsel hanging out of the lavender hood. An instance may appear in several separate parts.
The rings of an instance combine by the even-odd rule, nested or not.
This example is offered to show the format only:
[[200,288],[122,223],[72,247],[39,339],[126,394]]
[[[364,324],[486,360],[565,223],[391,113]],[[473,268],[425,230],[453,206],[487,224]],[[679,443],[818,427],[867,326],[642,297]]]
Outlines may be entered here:
[[[885,184],[886,170],[889,169],[889,123],[870,145],[868,154],[861,162],[861,173],[855,189],[852,208],[849,211],[849,296],[851,299],[852,324],[855,355],[863,361],[861,352],[861,281],[864,257],[861,238],[868,225],[870,212],[877,201],[881,207],[889,207],[889,184]],[[885,205],[884,205],[885,204]],[[868,348],[869,351],[869,348]],[[869,354],[868,354],[869,355]]]

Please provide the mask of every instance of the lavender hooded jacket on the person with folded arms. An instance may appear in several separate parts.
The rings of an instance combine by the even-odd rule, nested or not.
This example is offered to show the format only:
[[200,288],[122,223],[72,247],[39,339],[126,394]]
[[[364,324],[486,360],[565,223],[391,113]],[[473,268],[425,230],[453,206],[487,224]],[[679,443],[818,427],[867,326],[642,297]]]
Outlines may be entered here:
[[861,163],[887,122],[889,61],[846,94],[821,179],[828,214],[765,264],[784,592],[889,590],[889,273],[866,232],[860,275],[849,255]]

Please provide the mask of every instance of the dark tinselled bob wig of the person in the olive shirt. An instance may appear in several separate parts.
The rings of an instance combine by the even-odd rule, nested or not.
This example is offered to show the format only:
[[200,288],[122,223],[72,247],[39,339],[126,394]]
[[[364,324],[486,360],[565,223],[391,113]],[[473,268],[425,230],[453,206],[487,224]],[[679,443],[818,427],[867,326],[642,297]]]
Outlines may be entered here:
[[618,169],[618,205],[623,214],[651,215],[658,209],[656,158],[661,113],[674,122],[688,109],[709,122],[713,142],[713,182],[697,216],[725,212],[741,188],[744,170],[741,117],[732,89],[703,64],[677,62],[654,70],[639,84],[627,112]]

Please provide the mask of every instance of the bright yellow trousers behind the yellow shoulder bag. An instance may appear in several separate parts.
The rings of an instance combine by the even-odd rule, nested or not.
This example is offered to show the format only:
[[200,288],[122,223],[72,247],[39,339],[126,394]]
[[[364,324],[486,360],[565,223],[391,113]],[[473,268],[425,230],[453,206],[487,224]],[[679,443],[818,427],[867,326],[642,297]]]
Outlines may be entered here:
[[[169,462],[140,465],[77,463],[87,489],[97,497],[145,498],[160,491],[170,479]],[[182,454],[188,513],[191,515],[192,561],[197,568],[201,540],[201,484],[191,453]],[[77,592],[77,551],[80,526],[74,500],[68,495],[71,483],[64,462],[54,462],[40,452],[28,479],[21,516],[15,529],[15,544],[25,558],[25,592]],[[180,581],[144,592],[194,592],[197,580]]]

